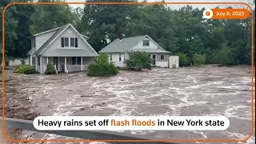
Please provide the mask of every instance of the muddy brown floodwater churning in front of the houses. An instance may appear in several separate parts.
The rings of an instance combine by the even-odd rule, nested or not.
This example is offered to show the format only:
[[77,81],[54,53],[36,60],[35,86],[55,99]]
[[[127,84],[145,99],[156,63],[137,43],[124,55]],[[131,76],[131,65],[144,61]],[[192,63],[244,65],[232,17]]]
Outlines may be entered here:
[[[30,102],[40,115],[119,116],[224,115],[230,127],[219,131],[120,131],[170,139],[244,139],[250,135],[250,66],[154,68],[121,71],[110,78],[76,74],[14,74],[6,70],[6,106]],[[29,105],[29,104],[28,104]],[[66,138],[23,130],[20,138]],[[247,141],[253,144],[255,134]],[[95,142],[91,142],[95,143]]]

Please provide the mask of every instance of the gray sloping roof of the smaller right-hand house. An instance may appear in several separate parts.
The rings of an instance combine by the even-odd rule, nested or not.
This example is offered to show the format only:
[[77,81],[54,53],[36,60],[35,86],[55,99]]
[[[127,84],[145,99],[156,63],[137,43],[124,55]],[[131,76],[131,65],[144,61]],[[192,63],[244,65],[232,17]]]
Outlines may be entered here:
[[113,42],[111,42],[109,45],[104,47],[102,50],[100,50],[99,53],[126,52],[126,50],[129,50],[132,46],[140,42],[142,38],[145,38],[146,36],[147,35],[130,37],[130,38],[122,38],[121,42],[120,42],[120,39],[117,38]]

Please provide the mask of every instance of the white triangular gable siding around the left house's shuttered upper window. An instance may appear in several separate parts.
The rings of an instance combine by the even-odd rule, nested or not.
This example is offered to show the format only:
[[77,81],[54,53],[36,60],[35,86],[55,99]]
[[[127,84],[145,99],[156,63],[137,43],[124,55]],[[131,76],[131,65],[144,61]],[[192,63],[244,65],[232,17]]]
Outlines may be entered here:
[[[71,33],[69,34],[68,31],[70,31]],[[69,26],[52,44],[50,44],[50,46],[42,53],[42,55],[58,48],[66,49],[66,47],[65,48],[62,47],[62,37],[78,38],[78,48],[93,51],[90,49],[90,46],[88,46],[86,42],[84,42],[82,38],[80,38],[80,36],[73,30],[73,28]],[[68,47],[68,48],[77,49],[77,47]]]

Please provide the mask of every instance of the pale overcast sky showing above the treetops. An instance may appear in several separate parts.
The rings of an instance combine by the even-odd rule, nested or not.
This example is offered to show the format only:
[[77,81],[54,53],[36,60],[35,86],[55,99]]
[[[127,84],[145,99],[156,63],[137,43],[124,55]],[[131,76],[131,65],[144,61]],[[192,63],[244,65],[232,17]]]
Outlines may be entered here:
[[[148,2],[159,2],[160,0],[148,0]],[[66,2],[85,2],[85,0],[66,0]],[[166,0],[166,2],[248,2],[248,0]],[[70,6],[80,6],[83,7],[83,5],[70,5]],[[172,9],[179,9],[184,5],[173,5],[170,7]],[[218,5],[192,5],[194,8],[198,7],[199,9],[201,9],[202,7],[205,8],[214,8]]]

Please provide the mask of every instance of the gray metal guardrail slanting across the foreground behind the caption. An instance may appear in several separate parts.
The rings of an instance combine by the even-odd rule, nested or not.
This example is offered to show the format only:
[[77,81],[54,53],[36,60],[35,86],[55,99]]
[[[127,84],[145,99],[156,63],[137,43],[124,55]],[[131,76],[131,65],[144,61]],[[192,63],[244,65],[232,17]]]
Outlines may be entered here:
[[[0,122],[2,122],[2,117],[0,117]],[[58,134],[71,138],[82,138],[82,139],[90,139],[90,140],[150,140],[159,138],[154,138],[153,136],[145,136],[138,134],[125,134],[118,133],[113,131],[82,131],[82,130],[36,130],[33,126],[33,121],[18,119],[18,118],[5,118],[5,127],[11,129],[21,129],[21,130],[30,130],[37,131],[47,134]],[[122,143],[122,144],[141,144],[142,142],[111,142],[111,143]],[[145,142],[152,144],[166,144],[171,142]],[[174,143],[173,143],[174,144]]]

